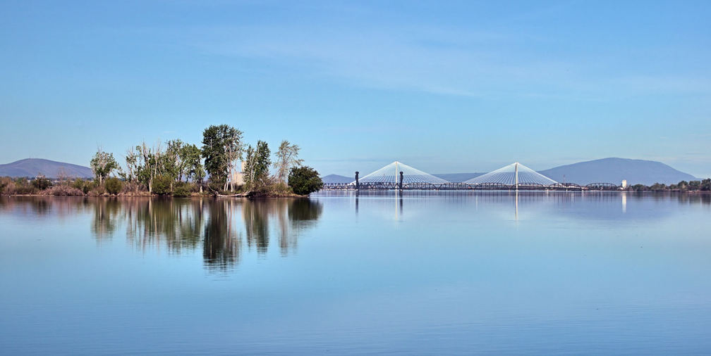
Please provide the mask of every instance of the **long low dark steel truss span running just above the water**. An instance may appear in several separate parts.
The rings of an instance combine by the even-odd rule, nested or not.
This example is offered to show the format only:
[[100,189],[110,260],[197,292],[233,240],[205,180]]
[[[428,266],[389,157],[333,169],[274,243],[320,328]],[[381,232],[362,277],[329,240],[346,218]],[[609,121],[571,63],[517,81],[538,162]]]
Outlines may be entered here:
[[594,190],[619,190],[621,187],[611,183],[591,183],[584,186],[574,183],[544,184],[502,184],[502,183],[400,183],[395,182],[365,182],[358,187],[352,183],[324,183],[321,190],[554,190],[554,191],[594,191]]

